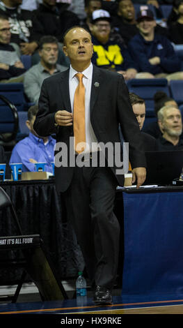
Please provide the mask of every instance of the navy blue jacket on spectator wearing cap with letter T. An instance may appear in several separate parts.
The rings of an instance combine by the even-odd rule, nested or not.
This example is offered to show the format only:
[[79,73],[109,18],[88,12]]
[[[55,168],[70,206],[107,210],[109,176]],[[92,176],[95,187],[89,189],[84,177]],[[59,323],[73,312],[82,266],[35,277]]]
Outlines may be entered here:
[[[136,34],[128,44],[132,59],[136,60],[139,72],[152,74],[174,73],[181,70],[180,59],[175,54],[170,41],[160,34],[154,33],[154,40],[146,41],[140,33]],[[152,65],[149,59],[160,57],[158,65]]]

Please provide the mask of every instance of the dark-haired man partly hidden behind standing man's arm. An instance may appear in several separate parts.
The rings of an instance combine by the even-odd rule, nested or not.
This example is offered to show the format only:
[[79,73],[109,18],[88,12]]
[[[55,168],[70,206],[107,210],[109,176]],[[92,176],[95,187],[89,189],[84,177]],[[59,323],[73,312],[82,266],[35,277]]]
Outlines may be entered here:
[[[145,121],[145,100],[133,92],[129,93],[129,100],[138,121],[139,128],[142,130]],[[148,133],[144,133],[143,131],[141,131],[141,135],[143,137],[144,151],[157,150],[157,140],[152,137],[152,135],[148,135]]]

